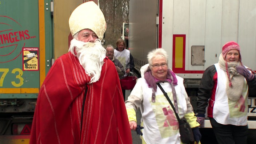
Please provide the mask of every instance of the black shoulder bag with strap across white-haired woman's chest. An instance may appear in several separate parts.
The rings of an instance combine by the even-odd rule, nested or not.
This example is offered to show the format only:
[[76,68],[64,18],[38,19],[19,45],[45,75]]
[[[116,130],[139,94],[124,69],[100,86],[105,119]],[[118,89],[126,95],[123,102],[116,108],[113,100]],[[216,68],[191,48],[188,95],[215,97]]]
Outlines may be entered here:
[[179,122],[179,130],[180,130],[180,139],[182,143],[185,144],[191,144],[195,141],[194,139],[194,135],[192,132],[191,127],[189,126],[189,123],[187,122],[187,120],[185,119],[185,117],[182,117],[180,119],[179,115],[176,113],[175,107],[172,104],[172,101],[169,99],[167,93],[164,91],[164,89],[162,88],[162,86],[157,83],[158,87],[161,89],[161,91],[164,93],[164,96],[166,97],[166,99],[168,100],[168,102],[171,104],[173,111],[175,112],[175,115],[177,117],[177,120]]

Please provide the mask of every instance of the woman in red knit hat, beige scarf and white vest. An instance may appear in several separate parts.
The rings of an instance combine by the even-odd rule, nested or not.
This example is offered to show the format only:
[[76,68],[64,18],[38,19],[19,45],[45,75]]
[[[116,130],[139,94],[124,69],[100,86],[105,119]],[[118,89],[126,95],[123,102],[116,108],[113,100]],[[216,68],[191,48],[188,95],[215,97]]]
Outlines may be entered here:
[[256,95],[256,79],[241,62],[240,46],[229,41],[219,62],[209,66],[197,97],[197,121],[204,127],[205,111],[219,144],[247,143],[248,96]]

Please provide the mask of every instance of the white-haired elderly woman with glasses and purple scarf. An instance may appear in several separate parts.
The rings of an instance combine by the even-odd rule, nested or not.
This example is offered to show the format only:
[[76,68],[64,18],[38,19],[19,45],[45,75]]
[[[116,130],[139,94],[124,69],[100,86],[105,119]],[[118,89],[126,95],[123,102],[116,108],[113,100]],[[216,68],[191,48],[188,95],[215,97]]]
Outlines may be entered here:
[[[176,113],[185,117],[192,128],[195,141],[201,134],[199,123],[183,85],[183,79],[168,68],[168,56],[164,49],[148,53],[148,64],[141,67],[141,78],[137,80],[128,100],[125,101],[131,130],[141,135],[143,144],[180,144],[179,122],[174,109],[157,85],[167,92]],[[136,110],[141,111],[141,127],[137,125]],[[143,129],[142,129],[143,128]],[[138,131],[141,129],[141,131]]]

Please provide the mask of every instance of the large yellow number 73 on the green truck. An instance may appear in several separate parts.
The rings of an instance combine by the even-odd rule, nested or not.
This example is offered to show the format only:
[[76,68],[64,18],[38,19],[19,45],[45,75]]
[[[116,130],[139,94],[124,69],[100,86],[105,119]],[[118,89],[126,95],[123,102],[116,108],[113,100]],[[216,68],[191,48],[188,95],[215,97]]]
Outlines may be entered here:
[[[4,78],[7,75],[7,73],[9,72],[8,68],[0,68],[0,72],[3,72],[2,76],[0,77],[0,87],[3,87],[3,83],[4,83]],[[24,79],[21,77],[23,75],[23,71],[19,68],[15,68],[12,70],[12,73],[16,73],[18,72],[18,74],[16,75],[16,79],[19,79],[19,83],[16,83],[15,81],[11,81],[12,85],[14,87],[20,87],[21,85],[23,85],[23,81]]]

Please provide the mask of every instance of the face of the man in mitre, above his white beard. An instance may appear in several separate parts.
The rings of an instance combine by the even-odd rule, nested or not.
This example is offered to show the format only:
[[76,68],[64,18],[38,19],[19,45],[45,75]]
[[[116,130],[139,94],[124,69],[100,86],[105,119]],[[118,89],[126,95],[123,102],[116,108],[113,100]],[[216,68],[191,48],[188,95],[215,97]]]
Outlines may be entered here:
[[97,35],[91,29],[83,29],[78,33],[77,40],[83,42],[94,42],[98,39]]

